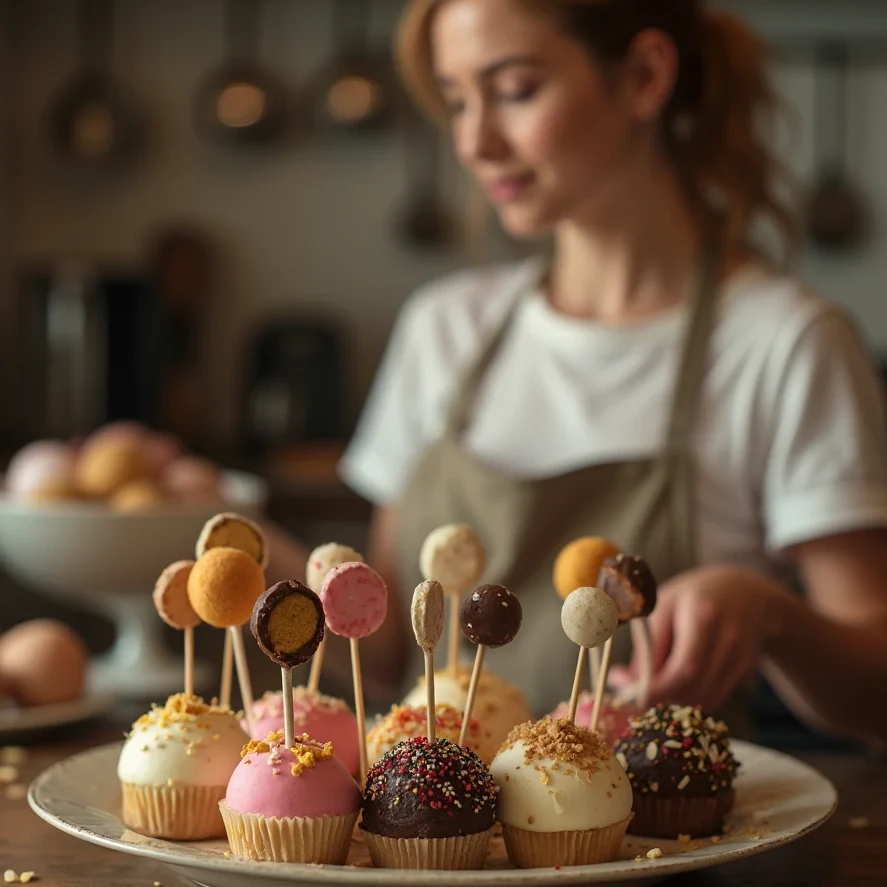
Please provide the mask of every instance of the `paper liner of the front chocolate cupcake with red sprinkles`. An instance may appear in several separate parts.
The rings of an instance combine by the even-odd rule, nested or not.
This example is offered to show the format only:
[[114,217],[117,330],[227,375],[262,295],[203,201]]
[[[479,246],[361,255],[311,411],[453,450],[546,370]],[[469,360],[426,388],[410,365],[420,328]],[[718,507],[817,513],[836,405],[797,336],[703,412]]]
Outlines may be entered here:
[[492,829],[459,838],[383,838],[364,829],[370,859],[382,869],[482,869],[490,849]]

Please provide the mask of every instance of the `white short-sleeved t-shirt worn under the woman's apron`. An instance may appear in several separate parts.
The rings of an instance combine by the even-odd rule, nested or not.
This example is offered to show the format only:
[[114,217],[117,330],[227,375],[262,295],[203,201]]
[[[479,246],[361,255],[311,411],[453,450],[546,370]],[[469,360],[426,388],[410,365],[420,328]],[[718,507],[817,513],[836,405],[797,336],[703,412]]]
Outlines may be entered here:
[[[531,478],[661,449],[688,309],[602,325],[555,311],[538,279],[522,262],[409,299],[340,465],[349,486],[397,500],[515,299],[464,445]],[[887,526],[884,394],[865,346],[839,308],[761,265],[722,290],[693,445],[703,564],[767,569],[793,543]]]

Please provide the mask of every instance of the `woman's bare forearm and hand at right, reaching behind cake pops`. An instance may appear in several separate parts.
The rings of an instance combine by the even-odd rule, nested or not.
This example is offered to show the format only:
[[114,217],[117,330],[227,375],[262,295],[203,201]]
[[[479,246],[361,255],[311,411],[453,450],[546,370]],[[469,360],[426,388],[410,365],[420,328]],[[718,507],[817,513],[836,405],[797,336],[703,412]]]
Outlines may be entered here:
[[[790,552],[808,595],[742,567],[663,584],[650,617],[651,698],[714,709],[757,668],[810,726],[887,743],[887,530]],[[614,684],[632,670],[615,669]]]

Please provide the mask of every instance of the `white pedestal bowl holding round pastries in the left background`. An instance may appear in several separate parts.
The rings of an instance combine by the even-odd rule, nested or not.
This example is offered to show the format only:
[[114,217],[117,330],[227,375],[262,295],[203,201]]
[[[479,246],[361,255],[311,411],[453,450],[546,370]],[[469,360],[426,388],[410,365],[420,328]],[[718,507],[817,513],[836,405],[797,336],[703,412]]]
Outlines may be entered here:
[[[108,616],[116,638],[90,667],[93,692],[161,698],[182,688],[183,659],[163,644],[151,600],[167,564],[194,557],[204,523],[219,511],[259,518],[267,501],[260,478],[228,472],[223,502],[169,504],[120,513],[102,504],[29,504],[0,492],[0,563],[17,581],[47,596]],[[195,684],[209,680],[198,663]]]

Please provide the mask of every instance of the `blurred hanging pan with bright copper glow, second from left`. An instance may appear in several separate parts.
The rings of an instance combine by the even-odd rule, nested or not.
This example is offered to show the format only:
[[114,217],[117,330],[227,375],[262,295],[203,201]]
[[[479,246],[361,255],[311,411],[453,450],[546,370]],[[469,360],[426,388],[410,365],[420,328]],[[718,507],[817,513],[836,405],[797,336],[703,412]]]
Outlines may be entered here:
[[263,9],[262,0],[228,0],[228,60],[197,95],[198,127],[220,144],[265,145],[283,132],[283,90],[259,63]]

